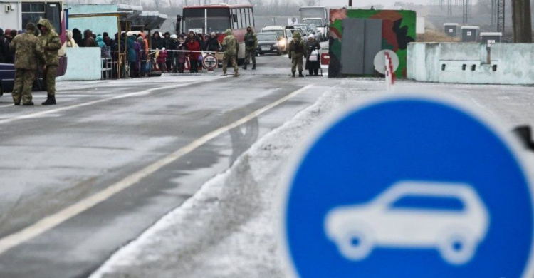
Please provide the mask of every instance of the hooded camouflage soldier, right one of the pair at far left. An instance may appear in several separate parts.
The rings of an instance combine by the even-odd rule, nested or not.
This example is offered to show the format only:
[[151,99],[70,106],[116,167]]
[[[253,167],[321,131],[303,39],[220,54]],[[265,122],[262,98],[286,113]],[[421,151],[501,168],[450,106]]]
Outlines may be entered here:
[[61,40],[48,19],[39,20],[37,26],[41,30],[39,40],[41,40],[41,46],[43,46],[46,56],[43,80],[45,81],[47,98],[42,104],[54,105],[56,104],[56,69],[59,66],[58,50],[61,48]]

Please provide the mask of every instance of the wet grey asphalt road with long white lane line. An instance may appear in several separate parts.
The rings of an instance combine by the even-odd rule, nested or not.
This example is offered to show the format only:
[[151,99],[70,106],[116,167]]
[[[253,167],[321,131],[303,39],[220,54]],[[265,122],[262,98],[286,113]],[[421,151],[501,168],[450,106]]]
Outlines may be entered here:
[[0,277],[87,277],[335,84],[289,67],[61,82],[53,106],[2,96]]

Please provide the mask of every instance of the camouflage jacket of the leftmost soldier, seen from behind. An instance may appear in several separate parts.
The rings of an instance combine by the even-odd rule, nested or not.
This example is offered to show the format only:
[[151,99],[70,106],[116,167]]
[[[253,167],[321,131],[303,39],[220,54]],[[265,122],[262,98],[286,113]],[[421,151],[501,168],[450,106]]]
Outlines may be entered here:
[[37,69],[37,61],[46,64],[41,41],[31,32],[18,35],[9,44],[9,51],[15,53],[15,68]]

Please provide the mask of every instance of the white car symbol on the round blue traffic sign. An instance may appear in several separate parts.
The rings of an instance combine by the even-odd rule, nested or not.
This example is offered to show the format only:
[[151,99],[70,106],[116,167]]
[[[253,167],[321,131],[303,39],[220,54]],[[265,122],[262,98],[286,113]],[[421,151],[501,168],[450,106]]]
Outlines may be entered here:
[[486,207],[471,186],[403,181],[366,204],[330,210],[325,234],[350,260],[367,258],[375,247],[436,248],[458,265],[471,261],[488,225]]

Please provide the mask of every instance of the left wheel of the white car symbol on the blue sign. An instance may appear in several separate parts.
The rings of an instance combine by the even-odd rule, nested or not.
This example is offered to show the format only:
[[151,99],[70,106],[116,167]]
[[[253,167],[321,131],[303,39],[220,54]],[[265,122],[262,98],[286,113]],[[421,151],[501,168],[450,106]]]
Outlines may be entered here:
[[354,261],[365,259],[373,247],[371,234],[362,230],[347,231],[338,242],[337,247],[346,259]]

